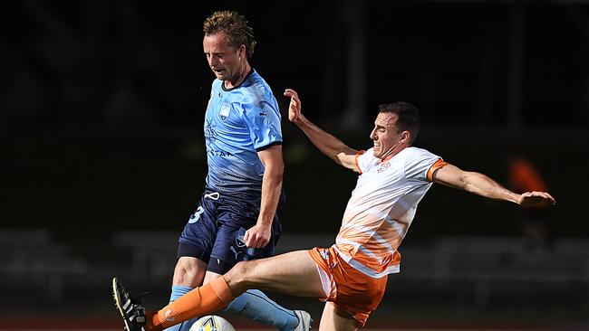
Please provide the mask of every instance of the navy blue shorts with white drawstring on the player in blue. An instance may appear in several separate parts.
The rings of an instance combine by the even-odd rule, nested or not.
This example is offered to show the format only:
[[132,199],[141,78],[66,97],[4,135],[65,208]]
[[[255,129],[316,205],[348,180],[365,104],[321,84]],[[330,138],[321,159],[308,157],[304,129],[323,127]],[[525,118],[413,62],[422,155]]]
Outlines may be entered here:
[[230,199],[205,192],[179,238],[178,257],[189,256],[208,263],[207,270],[224,274],[237,262],[273,256],[282,233],[275,215],[270,241],[261,249],[247,248],[246,230],[256,225],[259,201]]

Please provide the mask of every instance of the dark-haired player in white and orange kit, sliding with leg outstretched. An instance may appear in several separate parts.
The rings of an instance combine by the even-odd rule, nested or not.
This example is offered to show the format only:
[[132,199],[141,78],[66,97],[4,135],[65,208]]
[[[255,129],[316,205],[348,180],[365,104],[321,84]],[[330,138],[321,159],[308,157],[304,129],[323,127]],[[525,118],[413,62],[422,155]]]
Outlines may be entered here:
[[[555,203],[545,192],[516,194],[487,175],[463,171],[425,149],[412,147],[420,116],[409,103],[380,106],[370,134],[373,145],[362,151],[346,146],[305,118],[294,90],[285,90],[285,96],[291,98],[290,121],[323,154],[359,174],[335,243],[330,248],[240,262],[222,277],[148,313],[145,323],[128,324],[130,329],[160,330],[225,307],[248,288],[260,288],[326,301],[320,331],[355,330],[364,326],[381,302],[388,275],[399,272],[397,249],[432,183],[523,207]],[[129,317],[144,311],[116,278],[113,292]]]

